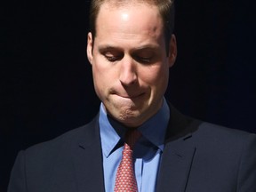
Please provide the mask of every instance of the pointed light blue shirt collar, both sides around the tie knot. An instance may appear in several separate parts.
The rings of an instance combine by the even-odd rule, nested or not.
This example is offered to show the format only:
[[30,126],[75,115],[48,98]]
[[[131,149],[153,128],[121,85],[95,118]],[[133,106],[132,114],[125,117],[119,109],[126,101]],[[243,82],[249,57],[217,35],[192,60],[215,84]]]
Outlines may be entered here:
[[[150,141],[154,146],[164,149],[164,137],[170,118],[170,108],[164,99],[162,107],[155,116],[148,119],[138,129],[143,137]],[[109,156],[117,143],[123,138],[125,128],[106,113],[103,103],[100,104],[100,139],[104,156]]]

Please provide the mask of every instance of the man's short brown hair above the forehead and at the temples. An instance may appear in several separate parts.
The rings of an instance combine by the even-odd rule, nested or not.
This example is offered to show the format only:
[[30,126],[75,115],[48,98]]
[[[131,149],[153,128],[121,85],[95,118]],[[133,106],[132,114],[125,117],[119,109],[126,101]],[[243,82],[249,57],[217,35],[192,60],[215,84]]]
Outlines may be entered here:
[[[154,4],[158,7],[160,15],[164,23],[164,38],[166,52],[169,52],[169,42],[173,33],[174,28],[174,0],[133,0],[133,2],[142,4]],[[100,12],[100,6],[104,3],[114,3],[114,4],[127,4],[132,2],[132,0],[92,0],[90,7],[90,30],[92,32],[92,38],[96,36],[96,20]]]

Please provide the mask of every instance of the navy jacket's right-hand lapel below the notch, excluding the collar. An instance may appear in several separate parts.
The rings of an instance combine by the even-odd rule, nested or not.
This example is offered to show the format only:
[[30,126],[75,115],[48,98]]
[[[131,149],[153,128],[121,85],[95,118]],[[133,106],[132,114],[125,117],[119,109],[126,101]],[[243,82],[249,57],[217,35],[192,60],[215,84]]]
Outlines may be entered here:
[[167,143],[162,155],[156,191],[185,191],[195,153],[196,148],[187,146],[184,140]]

